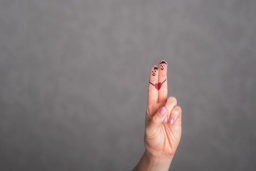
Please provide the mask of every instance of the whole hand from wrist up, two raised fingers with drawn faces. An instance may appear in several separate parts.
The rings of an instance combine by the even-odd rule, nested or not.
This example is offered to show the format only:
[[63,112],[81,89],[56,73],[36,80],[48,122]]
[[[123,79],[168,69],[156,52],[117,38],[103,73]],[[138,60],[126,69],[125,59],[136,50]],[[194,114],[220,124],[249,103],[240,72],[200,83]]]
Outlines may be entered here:
[[146,151],[152,156],[173,157],[181,137],[182,111],[175,97],[167,99],[166,61],[160,61],[158,69],[157,66],[151,69],[149,82],[144,136]]

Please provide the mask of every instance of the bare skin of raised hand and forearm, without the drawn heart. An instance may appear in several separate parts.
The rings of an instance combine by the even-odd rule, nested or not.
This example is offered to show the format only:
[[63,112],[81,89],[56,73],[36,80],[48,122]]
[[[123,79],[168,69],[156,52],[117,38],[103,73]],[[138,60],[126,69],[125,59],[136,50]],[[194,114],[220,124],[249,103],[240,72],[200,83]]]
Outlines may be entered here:
[[[162,60],[163,61],[163,60]],[[163,82],[157,90],[148,85],[144,145],[145,152],[133,171],[168,171],[181,138],[182,110],[175,97],[168,97],[167,64],[160,64],[156,75],[150,70],[151,83]],[[166,62],[167,63],[167,62]]]

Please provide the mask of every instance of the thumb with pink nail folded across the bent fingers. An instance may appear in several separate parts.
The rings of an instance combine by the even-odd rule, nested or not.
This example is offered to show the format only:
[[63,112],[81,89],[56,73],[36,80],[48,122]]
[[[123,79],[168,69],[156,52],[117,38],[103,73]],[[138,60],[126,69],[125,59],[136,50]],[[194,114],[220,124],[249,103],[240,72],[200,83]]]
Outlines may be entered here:
[[155,132],[157,132],[157,129],[161,125],[161,123],[166,123],[167,120],[167,109],[163,106],[155,113],[150,123],[148,124],[148,134],[154,134]]

